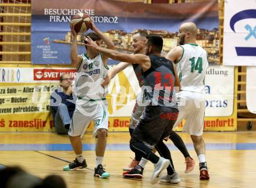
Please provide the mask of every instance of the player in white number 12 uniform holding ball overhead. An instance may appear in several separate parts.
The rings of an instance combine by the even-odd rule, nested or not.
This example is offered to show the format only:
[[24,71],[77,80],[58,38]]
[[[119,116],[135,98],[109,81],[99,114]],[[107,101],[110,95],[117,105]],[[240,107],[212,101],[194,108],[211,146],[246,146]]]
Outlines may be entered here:
[[[113,49],[114,44],[104,35],[91,21],[90,36],[95,45],[99,45],[101,41],[105,42],[107,48]],[[83,156],[81,137],[86,131],[91,121],[94,121],[93,136],[98,138],[96,144],[96,165],[94,176],[99,178],[108,178],[110,175],[102,167],[102,160],[106,147],[106,136],[108,131],[108,104],[106,102],[107,88],[102,87],[102,78],[108,72],[107,59],[108,56],[102,55],[90,46],[86,46],[86,53],[77,55],[77,34],[74,27],[70,26],[73,41],[70,50],[70,59],[73,66],[77,68],[75,80],[75,92],[77,95],[76,109],[69,128],[69,138],[72,143],[76,159],[63,170],[71,170],[77,168],[86,168],[86,160]]]

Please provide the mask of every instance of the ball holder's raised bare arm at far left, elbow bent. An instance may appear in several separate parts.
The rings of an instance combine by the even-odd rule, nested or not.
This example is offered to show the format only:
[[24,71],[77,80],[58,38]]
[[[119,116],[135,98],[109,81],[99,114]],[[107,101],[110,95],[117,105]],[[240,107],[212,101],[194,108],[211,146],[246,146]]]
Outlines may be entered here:
[[72,45],[70,49],[70,60],[72,66],[79,68],[81,63],[81,57],[77,55],[77,34],[76,31],[74,31],[74,26],[70,24],[70,30],[72,33]]

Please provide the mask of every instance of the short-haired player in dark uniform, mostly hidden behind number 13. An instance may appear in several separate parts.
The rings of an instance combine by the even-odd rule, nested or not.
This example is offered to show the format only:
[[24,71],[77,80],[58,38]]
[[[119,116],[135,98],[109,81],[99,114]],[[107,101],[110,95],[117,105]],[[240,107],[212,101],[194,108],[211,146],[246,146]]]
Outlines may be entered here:
[[[147,38],[146,38],[147,35],[148,35],[147,32],[143,30],[137,31],[133,34],[133,42],[131,45],[134,48],[134,52],[133,52],[134,54],[136,53],[145,54],[145,45],[147,43]],[[129,65],[130,63],[121,62],[115,67],[111,68],[106,78],[104,78],[105,82],[102,85],[103,86],[108,85],[109,81],[111,81],[111,79],[115,77],[116,74],[124,70]],[[144,85],[141,67],[138,64],[132,64],[132,66],[133,66],[134,73],[136,74],[136,77],[138,79],[138,84],[141,87]],[[136,104],[134,105],[133,111],[131,113],[131,120],[130,120],[130,126],[129,126],[130,135],[133,133],[133,130],[144,110],[144,106],[140,106],[139,105],[140,102],[138,102],[138,100],[141,100],[143,97],[141,93],[143,94],[143,92],[138,93],[136,97]],[[180,136],[176,132],[172,132],[170,134],[170,139],[185,157],[185,161],[186,161],[185,172],[188,173],[193,171],[195,162],[190,157],[189,152],[187,151],[187,148],[182,138],[180,138]],[[145,164],[147,164],[147,160],[145,160],[144,158],[141,160],[141,157],[138,156],[138,154],[135,154],[135,158],[130,162],[130,164],[127,167],[123,168],[123,170],[128,171],[128,172],[124,172],[123,176],[129,177],[129,178],[142,178]]]

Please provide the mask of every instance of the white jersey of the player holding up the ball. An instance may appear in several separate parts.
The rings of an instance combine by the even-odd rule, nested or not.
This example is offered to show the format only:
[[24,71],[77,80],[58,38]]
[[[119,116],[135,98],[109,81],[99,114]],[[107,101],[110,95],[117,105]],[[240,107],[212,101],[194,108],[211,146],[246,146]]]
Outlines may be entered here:
[[101,54],[90,59],[86,54],[80,55],[82,58],[75,80],[75,92],[78,99],[87,101],[98,101],[105,99],[108,94],[107,86],[102,87],[101,83],[108,67],[104,66]]

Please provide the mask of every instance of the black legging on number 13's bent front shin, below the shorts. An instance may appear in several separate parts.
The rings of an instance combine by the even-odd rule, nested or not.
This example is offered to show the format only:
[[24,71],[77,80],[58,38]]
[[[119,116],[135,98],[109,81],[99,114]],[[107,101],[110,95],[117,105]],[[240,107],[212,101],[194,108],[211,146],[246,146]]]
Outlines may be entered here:
[[145,144],[141,142],[130,142],[130,149],[134,153],[146,158],[147,160],[150,160],[154,164],[159,161],[159,157],[152,152],[152,149],[145,146]]

